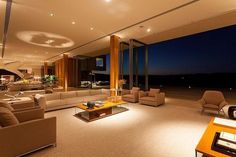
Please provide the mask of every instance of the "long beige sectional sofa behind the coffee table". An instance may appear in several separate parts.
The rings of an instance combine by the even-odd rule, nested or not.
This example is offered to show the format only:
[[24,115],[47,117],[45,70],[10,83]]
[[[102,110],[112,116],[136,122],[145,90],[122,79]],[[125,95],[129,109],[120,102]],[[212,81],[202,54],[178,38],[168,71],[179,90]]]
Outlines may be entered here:
[[87,101],[107,100],[109,96],[109,89],[79,90],[45,94],[38,98],[38,102],[45,111],[51,111],[73,107]]

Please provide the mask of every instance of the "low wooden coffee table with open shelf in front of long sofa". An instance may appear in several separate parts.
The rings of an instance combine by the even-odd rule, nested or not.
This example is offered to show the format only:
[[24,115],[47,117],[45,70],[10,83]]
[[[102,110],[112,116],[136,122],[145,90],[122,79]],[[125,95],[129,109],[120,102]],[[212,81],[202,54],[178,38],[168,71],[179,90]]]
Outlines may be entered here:
[[[97,119],[101,119],[107,116],[111,116],[114,114],[118,114],[121,112],[128,111],[125,108],[124,104],[127,104],[125,101],[117,101],[117,102],[110,102],[104,101],[101,107],[94,107],[93,109],[89,109],[83,103],[76,105],[75,107],[75,116],[85,120],[87,122],[91,122]],[[83,112],[77,112],[77,109],[83,110]]]

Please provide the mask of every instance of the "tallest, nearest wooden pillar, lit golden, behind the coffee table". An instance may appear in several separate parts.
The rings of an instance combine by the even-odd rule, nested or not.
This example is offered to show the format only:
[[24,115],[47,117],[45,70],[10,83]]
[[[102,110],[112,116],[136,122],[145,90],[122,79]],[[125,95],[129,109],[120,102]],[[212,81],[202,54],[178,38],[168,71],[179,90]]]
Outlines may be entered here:
[[119,37],[112,35],[110,37],[110,89],[111,96],[115,96],[119,82]]

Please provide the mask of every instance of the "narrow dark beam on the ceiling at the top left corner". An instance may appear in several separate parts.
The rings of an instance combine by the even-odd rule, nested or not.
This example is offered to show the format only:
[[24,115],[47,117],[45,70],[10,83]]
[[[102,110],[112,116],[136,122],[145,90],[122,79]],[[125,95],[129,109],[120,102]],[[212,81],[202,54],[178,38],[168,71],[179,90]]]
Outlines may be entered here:
[[12,0],[7,0],[4,31],[3,31],[3,37],[2,37],[2,58],[4,57],[4,53],[5,53],[7,32],[8,32],[8,27],[9,27],[10,17],[11,17],[11,5],[12,5]]

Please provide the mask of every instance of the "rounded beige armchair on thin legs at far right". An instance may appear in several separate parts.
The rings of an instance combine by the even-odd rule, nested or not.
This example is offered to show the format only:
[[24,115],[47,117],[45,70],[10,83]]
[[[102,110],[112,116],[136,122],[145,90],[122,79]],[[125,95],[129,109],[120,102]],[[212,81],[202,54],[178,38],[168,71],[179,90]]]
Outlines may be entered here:
[[221,111],[224,113],[222,109],[225,105],[228,105],[222,92],[210,90],[204,92],[199,103],[202,105],[202,113],[205,110],[211,110],[217,111],[218,115]]

